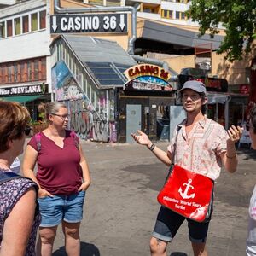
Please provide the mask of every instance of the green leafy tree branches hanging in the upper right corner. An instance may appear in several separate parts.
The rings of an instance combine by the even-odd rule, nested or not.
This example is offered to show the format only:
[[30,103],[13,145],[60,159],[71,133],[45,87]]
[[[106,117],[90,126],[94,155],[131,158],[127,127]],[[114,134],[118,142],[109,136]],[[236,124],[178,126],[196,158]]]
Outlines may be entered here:
[[192,0],[189,18],[200,25],[200,36],[210,32],[211,38],[224,26],[225,36],[218,53],[229,61],[241,60],[243,51],[250,52],[256,39],[255,0]]

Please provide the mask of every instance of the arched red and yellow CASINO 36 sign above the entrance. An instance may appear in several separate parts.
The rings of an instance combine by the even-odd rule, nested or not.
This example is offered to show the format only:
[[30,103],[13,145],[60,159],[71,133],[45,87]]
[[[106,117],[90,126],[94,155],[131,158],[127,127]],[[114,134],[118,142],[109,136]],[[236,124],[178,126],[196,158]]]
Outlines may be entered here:
[[171,78],[171,74],[168,73],[164,68],[150,64],[141,64],[130,67],[125,70],[125,76],[129,80],[143,76],[154,76],[165,81],[168,81],[168,79]]

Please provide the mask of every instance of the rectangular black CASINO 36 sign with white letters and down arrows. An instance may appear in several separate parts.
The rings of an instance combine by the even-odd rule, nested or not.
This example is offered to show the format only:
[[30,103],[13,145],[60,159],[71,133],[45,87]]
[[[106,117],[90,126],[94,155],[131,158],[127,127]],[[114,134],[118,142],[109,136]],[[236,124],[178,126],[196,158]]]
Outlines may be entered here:
[[127,14],[51,15],[50,32],[127,32]]

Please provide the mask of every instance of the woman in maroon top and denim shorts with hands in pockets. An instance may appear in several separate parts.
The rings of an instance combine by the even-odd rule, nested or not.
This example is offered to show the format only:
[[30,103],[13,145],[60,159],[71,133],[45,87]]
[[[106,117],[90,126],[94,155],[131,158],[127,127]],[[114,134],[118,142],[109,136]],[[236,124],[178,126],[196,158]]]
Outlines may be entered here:
[[[42,106],[41,106],[42,107]],[[90,172],[79,138],[67,131],[66,105],[44,105],[48,128],[34,135],[26,147],[23,172],[38,183],[38,255],[52,254],[58,224],[62,224],[67,255],[80,255],[79,226],[83,218],[84,195],[90,186]],[[33,173],[38,162],[38,172]]]

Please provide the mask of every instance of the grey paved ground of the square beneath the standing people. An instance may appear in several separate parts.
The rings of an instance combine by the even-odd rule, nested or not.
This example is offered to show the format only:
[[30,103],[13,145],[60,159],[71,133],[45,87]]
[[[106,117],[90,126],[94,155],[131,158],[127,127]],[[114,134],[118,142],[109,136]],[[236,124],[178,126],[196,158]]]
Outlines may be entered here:
[[[92,183],[81,223],[82,256],[148,256],[148,241],[160,205],[156,196],[167,168],[137,144],[83,141]],[[156,143],[166,150],[168,143]],[[212,256],[245,255],[247,207],[256,181],[256,153],[239,148],[237,172],[223,171],[215,186],[214,211],[207,238]],[[22,161],[22,156],[20,157]],[[61,226],[54,256],[66,255]],[[184,223],[168,256],[193,256]]]

